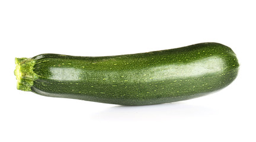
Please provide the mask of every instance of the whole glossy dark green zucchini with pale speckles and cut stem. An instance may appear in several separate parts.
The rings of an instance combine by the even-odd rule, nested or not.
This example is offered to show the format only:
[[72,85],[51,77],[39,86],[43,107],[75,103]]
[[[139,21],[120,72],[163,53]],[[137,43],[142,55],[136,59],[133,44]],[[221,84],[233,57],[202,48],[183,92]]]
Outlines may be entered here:
[[219,43],[104,57],[40,54],[15,63],[17,89],[119,105],[203,96],[228,86],[239,69],[235,53]]

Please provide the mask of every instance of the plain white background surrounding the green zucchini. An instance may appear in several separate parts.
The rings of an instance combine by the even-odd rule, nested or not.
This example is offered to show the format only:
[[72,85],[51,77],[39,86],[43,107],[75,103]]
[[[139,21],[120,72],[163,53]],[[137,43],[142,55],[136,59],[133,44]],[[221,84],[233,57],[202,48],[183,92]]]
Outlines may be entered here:
[[[0,141],[256,141],[254,1],[1,1]],[[120,106],[16,89],[15,57],[108,56],[217,42],[236,80],[201,98]]]

